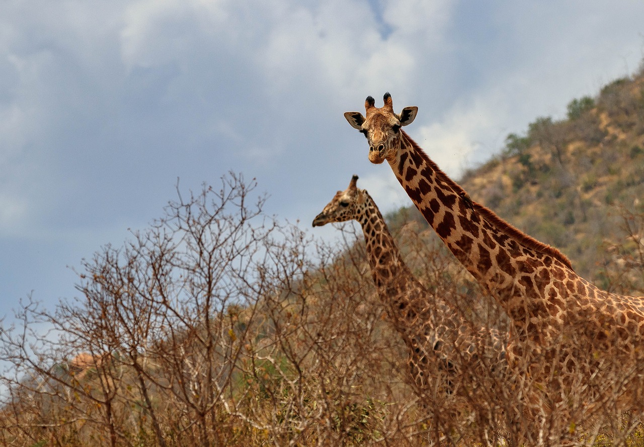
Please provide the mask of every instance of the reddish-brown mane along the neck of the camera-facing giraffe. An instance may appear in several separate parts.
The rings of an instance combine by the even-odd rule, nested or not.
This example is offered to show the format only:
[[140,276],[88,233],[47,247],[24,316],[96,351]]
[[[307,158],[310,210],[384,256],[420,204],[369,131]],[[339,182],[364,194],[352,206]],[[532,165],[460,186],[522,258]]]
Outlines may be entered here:
[[[421,154],[421,157],[430,165],[431,169],[436,173],[436,178],[439,179],[442,183],[448,185],[448,187],[453,190],[456,194],[460,195],[460,193],[467,194],[467,192],[455,181],[453,181],[451,178],[447,176],[442,170],[438,167],[436,163],[434,163],[431,158],[422,150],[422,148],[410,138],[410,136],[403,131],[402,129],[400,130],[401,134],[407,138],[407,140],[413,145],[414,149]],[[534,237],[531,235],[528,235],[518,228],[516,226],[513,226],[511,223],[504,221],[498,215],[493,212],[491,209],[489,209],[487,206],[481,205],[480,203],[477,203],[475,201],[472,201],[473,208],[475,212],[480,215],[483,219],[488,221],[490,224],[492,224],[497,230],[500,232],[504,233],[505,235],[511,237],[512,239],[515,239],[516,242],[519,242],[526,248],[529,248],[530,250],[535,250],[539,251],[540,253],[544,253],[545,255],[550,255],[554,259],[559,260],[562,264],[564,264],[567,268],[573,269],[573,264],[570,262],[568,257],[564,255],[561,251],[559,251],[557,248],[554,248],[551,245],[544,244],[544,242],[537,241]]]

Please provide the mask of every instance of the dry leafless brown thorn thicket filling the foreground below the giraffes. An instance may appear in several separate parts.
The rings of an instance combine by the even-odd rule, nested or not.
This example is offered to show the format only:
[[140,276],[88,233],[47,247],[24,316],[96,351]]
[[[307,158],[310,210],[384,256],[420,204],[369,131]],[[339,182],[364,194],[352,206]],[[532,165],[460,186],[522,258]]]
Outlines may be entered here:
[[[601,390],[592,414],[574,389],[565,402],[542,392],[551,411],[537,420],[523,417],[524,390],[558,388],[509,377],[484,352],[483,367],[450,376],[452,394],[439,391],[439,365],[417,389],[355,226],[315,241],[265,215],[264,201],[235,174],[178,194],[150,228],[82,262],[79,298],[53,311],[21,303],[0,328],[0,445],[558,445],[562,432],[573,445],[643,445],[640,415],[616,414],[607,392],[640,380],[637,369],[573,384]],[[505,330],[491,300],[412,230],[397,238],[423,284]]]

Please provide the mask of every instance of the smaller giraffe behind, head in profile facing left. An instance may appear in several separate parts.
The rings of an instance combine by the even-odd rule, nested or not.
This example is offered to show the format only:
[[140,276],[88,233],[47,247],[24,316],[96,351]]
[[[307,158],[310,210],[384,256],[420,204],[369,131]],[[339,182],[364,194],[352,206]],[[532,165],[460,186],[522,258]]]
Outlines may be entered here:
[[422,286],[405,264],[374,199],[357,188],[357,179],[353,176],[348,188],[336,193],[313,226],[350,220],[361,225],[377,292],[406,343],[417,389],[426,392],[435,385],[431,374],[438,372],[437,365],[446,374],[442,386],[449,384],[457,392],[463,370],[467,370],[468,380],[480,381],[476,385],[492,377],[490,369],[502,372],[507,334],[503,338],[495,329],[474,328],[457,309]]

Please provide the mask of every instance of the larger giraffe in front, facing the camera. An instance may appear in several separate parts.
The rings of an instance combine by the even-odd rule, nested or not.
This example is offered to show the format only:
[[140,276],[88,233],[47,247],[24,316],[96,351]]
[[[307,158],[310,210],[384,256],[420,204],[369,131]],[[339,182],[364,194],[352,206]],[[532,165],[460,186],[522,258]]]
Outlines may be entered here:
[[[389,163],[440,239],[511,318],[508,363],[531,384],[532,416],[544,421],[557,410],[571,418],[572,406],[641,410],[644,297],[598,289],[556,248],[472,201],[401,129],[418,107],[396,114],[389,93],[383,107],[374,104],[368,96],[366,116],[347,112],[346,120],[365,134],[369,160]],[[596,386],[601,381],[612,385]]]

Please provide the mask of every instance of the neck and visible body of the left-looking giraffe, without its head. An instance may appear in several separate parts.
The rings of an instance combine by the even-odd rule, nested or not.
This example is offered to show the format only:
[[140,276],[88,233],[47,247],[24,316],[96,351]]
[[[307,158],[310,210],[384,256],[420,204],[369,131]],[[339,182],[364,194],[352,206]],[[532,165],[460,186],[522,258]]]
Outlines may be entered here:
[[[459,363],[465,357],[480,352],[495,352],[489,354],[489,358],[501,362],[505,356],[506,342],[498,332],[485,328],[479,328],[477,332],[455,307],[422,286],[404,263],[373,199],[366,191],[363,194],[365,204],[355,220],[363,228],[366,251],[381,301],[410,353],[409,364],[417,385],[422,388],[426,383],[427,378],[423,377],[426,366],[423,365],[430,358],[442,365],[439,368],[446,370],[451,368],[452,362]],[[478,344],[481,340],[484,340],[483,345]],[[462,351],[446,354],[455,346]],[[449,387],[451,384],[448,381]]]

